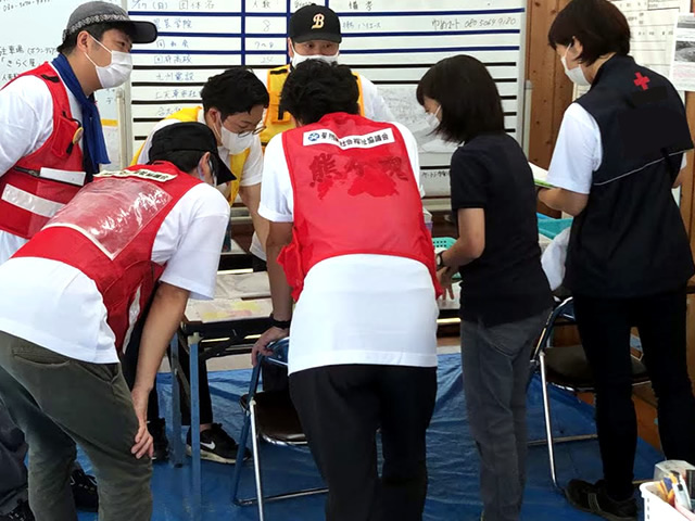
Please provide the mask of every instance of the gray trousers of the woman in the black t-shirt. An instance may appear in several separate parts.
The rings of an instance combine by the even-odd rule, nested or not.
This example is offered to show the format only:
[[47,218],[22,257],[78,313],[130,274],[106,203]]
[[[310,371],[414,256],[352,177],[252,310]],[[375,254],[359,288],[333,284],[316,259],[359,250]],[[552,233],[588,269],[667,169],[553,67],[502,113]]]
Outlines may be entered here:
[[480,455],[485,521],[517,521],[526,485],[526,389],[533,344],[549,309],[485,327],[462,321],[468,423]]

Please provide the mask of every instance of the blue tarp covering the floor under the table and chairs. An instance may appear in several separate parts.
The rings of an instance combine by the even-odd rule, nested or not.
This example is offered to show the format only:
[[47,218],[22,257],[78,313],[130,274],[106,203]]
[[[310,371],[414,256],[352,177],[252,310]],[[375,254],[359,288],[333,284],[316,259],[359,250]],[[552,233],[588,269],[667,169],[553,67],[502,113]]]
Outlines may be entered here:
[[[237,439],[242,414],[239,396],[248,389],[251,371],[220,371],[210,373],[215,421]],[[160,399],[163,411],[170,417],[170,376],[160,374]],[[554,431],[558,435],[594,432],[593,408],[573,396],[553,390]],[[529,391],[530,437],[543,437],[541,385],[536,379]],[[172,435],[169,431],[169,435]],[[262,446],[266,494],[287,492],[288,487],[320,486],[321,481],[308,449]],[[595,441],[556,445],[560,483],[571,478],[594,481],[601,478],[601,460]],[[635,475],[647,479],[660,454],[644,442],[637,447]],[[190,467],[179,469],[168,463],[154,467],[152,491],[154,521],[190,519]],[[84,461],[89,467],[88,461]],[[440,356],[437,408],[428,432],[428,490],[425,519],[427,521],[465,521],[480,519],[478,497],[478,458],[466,423],[460,357]],[[203,461],[203,520],[256,520],[255,507],[231,505],[233,467]],[[242,497],[253,495],[253,467],[245,463],[242,474]],[[325,496],[289,499],[266,506],[269,521],[319,521],[324,519]],[[94,521],[96,514],[81,514],[80,521]],[[544,446],[529,449],[528,485],[522,519],[526,521],[595,520],[593,516],[570,508],[554,491]]]

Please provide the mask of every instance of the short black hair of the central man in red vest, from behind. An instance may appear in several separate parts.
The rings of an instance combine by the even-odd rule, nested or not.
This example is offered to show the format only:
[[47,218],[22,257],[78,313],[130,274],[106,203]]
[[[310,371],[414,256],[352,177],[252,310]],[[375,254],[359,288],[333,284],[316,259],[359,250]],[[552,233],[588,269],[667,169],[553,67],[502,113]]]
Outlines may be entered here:
[[307,60],[287,77],[280,111],[289,112],[303,125],[336,112],[359,114],[357,78],[345,65]]

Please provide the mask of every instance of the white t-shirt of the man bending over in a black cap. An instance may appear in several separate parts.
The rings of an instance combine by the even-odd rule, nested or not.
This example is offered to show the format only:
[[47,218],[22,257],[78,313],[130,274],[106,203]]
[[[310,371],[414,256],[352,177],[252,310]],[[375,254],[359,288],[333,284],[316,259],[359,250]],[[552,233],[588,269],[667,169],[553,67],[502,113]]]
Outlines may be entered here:
[[[152,260],[165,264],[160,280],[212,298],[229,204],[213,187],[198,185],[160,227]],[[115,335],[97,284],[66,264],[37,257],[0,266],[0,331],[92,364],[118,361]]]

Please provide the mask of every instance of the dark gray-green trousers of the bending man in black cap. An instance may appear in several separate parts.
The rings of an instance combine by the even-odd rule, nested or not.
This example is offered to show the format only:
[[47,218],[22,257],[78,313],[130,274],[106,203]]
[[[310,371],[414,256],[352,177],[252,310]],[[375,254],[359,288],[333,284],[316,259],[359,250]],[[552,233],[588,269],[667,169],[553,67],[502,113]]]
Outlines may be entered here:
[[121,364],[88,364],[0,332],[0,396],[29,445],[29,504],[40,521],[76,521],[70,474],[78,443],[99,484],[100,521],[152,514],[152,462]]

